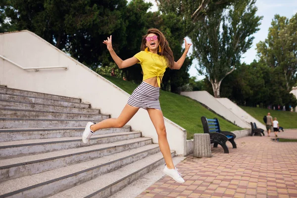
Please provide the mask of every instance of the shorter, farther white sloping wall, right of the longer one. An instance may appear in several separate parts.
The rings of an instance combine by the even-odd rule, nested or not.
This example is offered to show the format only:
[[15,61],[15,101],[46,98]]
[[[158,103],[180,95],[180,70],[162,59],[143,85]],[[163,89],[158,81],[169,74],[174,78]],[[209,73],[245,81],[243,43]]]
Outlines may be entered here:
[[247,124],[250,124],[250,122],[255,122],[258,128],[261,128],[261,129],[264,129],[264,130],[266,129],[266,126],[262,122],[258,121],[257,119],[255,119],[254,117],[252,117],[251,115],[249,115],[244,109],[242,109],[241,107],[239,107],[237,104],[235,104],[230,99],[219,98],[217,100],[221,104],[223,104],[224,106],[226,106],[235,115],[237,115],[238,117],[240,117],[243,121],[247,122]]

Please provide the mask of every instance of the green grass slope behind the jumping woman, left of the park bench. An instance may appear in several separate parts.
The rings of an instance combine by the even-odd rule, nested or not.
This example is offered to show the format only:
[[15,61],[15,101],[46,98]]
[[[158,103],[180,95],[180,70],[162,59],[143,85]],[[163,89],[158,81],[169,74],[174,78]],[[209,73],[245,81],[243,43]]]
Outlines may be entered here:
[[[123,81],[119,78],[110,76],[103,77],[120,87],[128,94],[132,94],[133,90],[138,86],[137,84]],[[198,101],[185,96],[161,91],[160,104],[163,115],[166,118],[187,130],[188,140],[193,139],[195,133],[203,133],[203,127],[200,120],[201,116],[205,116],[207,118],[217,117],[220,121],[220,127],[222,131],[236,131],[242,129],[209,111]]]

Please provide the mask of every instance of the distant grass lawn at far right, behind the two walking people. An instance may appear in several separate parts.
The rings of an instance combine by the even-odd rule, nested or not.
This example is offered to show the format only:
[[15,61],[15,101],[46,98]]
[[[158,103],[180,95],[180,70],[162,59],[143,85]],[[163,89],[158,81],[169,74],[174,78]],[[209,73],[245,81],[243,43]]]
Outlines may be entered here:
[[276,110],[269,110],[265,108],[255,108],[255,107],[247,107],[247,106],[240,106],[248,114],[259,120],[261,123],[265,124],[263,121],[264,115],[267,115],[270,112],[272,118],[276,117],[279,125],[284,127],[284,129],[296,129],[297,128],[297,113],[290,112],[290,111],[276,111]]

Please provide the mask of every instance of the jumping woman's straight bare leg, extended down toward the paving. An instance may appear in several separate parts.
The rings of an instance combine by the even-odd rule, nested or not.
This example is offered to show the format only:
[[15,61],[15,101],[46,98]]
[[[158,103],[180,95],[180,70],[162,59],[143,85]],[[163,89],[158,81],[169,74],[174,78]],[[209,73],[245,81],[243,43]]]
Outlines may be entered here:
[[166,166],[169,169],[174,169],[174,164],[172,161],[171,152],[166,136],[163,113],[161,110],[148,108],[148,115],[157,131],[159,147],[165,159]]

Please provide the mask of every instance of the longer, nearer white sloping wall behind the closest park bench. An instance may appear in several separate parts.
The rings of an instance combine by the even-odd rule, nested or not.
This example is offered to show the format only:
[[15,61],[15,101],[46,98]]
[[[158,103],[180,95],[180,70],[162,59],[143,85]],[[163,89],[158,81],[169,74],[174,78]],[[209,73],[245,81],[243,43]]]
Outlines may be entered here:
[[223,116],[227,120],[231,121],[232,123],[244,129],[250,129],[250,124],[247,124],[247,122],[240,119],[237,115],[235,115],[226,106],[221,104],[218,100],[216,100],[213,96],[211,96],[206,91],[182,92],[181,95],[188,96],[191,99],[195,99],[205,104],[217,114]]

